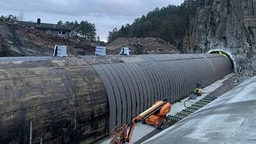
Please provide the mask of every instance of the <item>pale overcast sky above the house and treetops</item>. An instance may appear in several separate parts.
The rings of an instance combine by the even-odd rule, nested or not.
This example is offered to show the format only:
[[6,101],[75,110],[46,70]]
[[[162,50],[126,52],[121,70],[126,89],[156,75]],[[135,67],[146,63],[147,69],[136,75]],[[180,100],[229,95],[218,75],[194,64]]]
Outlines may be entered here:
[[26,21],[56,24],[59,20],[87,20],[96,25],[100,40],[106,41],[108,31],[133,20],[148,11],[179,5],[184,0],[0,0],[0,15],[19,15],[22,11]]

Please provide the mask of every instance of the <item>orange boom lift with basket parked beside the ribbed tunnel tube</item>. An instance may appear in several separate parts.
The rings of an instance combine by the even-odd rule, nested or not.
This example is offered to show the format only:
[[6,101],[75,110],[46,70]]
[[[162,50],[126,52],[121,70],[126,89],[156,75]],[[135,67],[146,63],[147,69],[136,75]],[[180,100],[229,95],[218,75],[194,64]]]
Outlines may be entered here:
[[118,124],[111,131],[110,143],[125,143],[130,142],[132,133],[134,131],[136,122],[142,120],[143,124],[150,124],[156,126],[157,129],[163,129],[164,120],[166,119],[167,113],[171,111],[171,104],[166,101],[157,101],[148,110],[140,113],[137,117],[132,120],[129,133],[127,135],[127,124]]

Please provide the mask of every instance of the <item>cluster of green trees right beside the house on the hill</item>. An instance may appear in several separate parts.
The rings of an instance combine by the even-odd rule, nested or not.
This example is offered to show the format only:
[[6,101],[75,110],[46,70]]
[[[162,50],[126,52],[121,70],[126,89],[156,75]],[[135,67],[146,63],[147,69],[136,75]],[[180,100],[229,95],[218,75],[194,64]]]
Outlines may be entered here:
[[75,22],[64,22],[60,20],[57,24],[60,25],[70,25],[72,27],[72,36],[81,36],[82,38],[90,41],[100,41],[99,36],[96,38],[96,27],[95,24],[82,20],[80,23],[75,20]]

